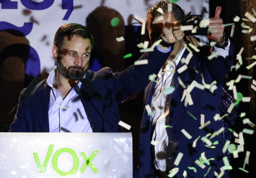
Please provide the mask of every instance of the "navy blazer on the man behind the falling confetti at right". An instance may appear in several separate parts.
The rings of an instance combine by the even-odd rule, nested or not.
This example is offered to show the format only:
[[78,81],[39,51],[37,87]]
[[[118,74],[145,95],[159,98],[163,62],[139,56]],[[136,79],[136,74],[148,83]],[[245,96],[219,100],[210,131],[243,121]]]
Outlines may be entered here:
[[[179,172],[177,177],[182,177],[183,171],[186,170],[188,175],[191,177],[203,177],[207,172],[207,168],[200,168],[194,162],[196,159],[199,160],[201,153],[205,152],[207,159],[214,158],[211,160],[211,170],[207,177],[213,177],[214,171],[219,173],[219,169],[223,166],[222,157],[222,148],[224,146],[223,133],[215,138],[211,139],[212,142],[218,140],[218,145],[216,148],[207,148],[200,140],[207,133],[213,133],[220,129],[223,125],[221,121],[214,121],[213,117],[216,113],[221,115],[221,84],[225,75],[230,71],[230,66],[233,64],[233,47],[230,45],[229,56],[224,59],[222,56],[208,60],[209,50],[200,48],[200,52],[193,52],[193,57],[191,58],[188,69],[182,73],[177,73],[175,71],[172,86],[175,87],[174,92],[171,94],[170,109],[169,109],[169,125],[172,128],[166,128],[167,133],[170,131],[170,135],[173,140],[173,161],[175,160],[179,152],[183,153],[183,158],[179,164]],[[185,50],[183,57],[186,58],[188,51]],[[179,69],[183,64],[179,62],[176,67],[176,70]],[[197,72],[196,72],[197,70]],[[184,101],[181,102],[181,98],[184,92],[184,89],[178,82],[178,77],[181,78],[185,86],[191,84],[193,80],[202,84],[202,76],[204,77],[205,83],[210,84],[213,81],[217,81],[217,89],[212,94],[208,89],[200,90],[194,88],[192,90],[191,97],[194,102],[191,106],[184,106]],[[151,106],[152,96],[155,89],[155,82],[150,82],[150,84],[145,88],[144,92],[144,104],[149,104]],[[193,119],[188,113],[193,114],[197,120]],[[200,130],[200,114],[205,115],[205,122],[210,121],[211,124],[205,129]],[[183,133],[182,129],[185,129],[191,136],[192,139],[187,139]],[[200,136],[200,139],[197,141],[197,146],[192,147],[193,141]],[[209,138],[209,137],[208,137]],[[141,121],[141,134],[140,134],[140,163],[139,163],[139,172],[141,178],[150,178],[153,177],[153,152],[152,145],[150,144],[152,140],[152,123],[150,116],[147,115],[147,111],[144,110],[143,118]],[[187,166],[194,166],[197,169],[197,173],[194,173],[192,170],[189,170]],[[170,171],[170,170],[169,170]],[[227,173],[224,177],[227,176]]]

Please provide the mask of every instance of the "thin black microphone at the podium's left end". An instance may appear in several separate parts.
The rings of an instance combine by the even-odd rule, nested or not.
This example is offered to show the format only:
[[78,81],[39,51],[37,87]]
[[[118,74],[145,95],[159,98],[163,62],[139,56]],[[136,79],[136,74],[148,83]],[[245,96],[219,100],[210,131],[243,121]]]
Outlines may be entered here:
[[26,97],[28,97],[30,95],[30,93],[33,91],[33,89],[35,88],[35,86],[37,86],[37,84],[41,81],[41,78],[39,76],[36,76],[33,78],[33,80],[30,82],[30,84],[28,85],[28,87],[24,90],[24,92],[20,95],[20,100],[18,101],[18,103],[13,107],[13,109],[11,110],[11,112],[5,117],[5,124],[4,124],[4,131],[8,132],[8,125],[7,125],[7,121],[9,118],[9,115],[14,111],[14,109],[18,106],[18,104],[20,103],[20,101],[22,101],[23,99],[25,99]]

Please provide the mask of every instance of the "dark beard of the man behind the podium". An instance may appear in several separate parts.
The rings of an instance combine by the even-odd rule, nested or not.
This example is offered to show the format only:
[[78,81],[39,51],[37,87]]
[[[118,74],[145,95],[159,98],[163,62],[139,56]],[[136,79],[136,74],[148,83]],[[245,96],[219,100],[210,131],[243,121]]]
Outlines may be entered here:
[[[75,80],[79,81],[81,78],[84,77],[87,68],[84,69],[81,66],[69,66],[68,68],[64,67],[63,64],[61,63],[61,59],[57,59],[57,69],[58,72],[63,75],[65,78],[69,80]],[[79,69],[79,70],[74,70],[74,69]]]

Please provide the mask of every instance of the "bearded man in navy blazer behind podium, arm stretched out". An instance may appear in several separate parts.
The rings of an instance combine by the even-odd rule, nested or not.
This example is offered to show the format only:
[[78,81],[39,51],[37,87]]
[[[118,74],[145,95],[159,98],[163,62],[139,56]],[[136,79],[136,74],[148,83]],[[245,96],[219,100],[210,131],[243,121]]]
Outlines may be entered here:
[[[166,24],[166,42],[184,37],[182,32],[173,35],[175,30]],[[11,132],[118,132],[118,104],[142,90],[171,52],[161,52],[166,47],[159,44],[140,57],[148,59],[146,65],[94,72],[87,70],[93,44],[83,25],[70,23],[58,29],[52,47],[57,68],[20,101]]]

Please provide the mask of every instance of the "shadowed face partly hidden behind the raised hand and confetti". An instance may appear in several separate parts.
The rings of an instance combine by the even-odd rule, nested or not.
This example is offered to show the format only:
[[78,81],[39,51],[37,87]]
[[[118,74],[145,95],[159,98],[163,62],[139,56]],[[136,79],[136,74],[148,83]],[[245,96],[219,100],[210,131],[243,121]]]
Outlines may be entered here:
[[[163,15],[164,20],[161,20],[161,22],[157,22],[157,23],[153,24],[154,19],[157,18],[157,17],[154,17],[152,14],[149,15],[146,23],[147,23],[148,33],[150,35],[151,44],[153,44],[156,41],[156,39],[159,38],[159,36],[162,34],[163,25],[164,25],[162,23],[162,21],[165,22],[166,19],[167,19],[167,16],[168,16],[168,14]],[[172,22],[176,21],[176,19],[174,18],[173,15],[171,17],[171,21]]]

